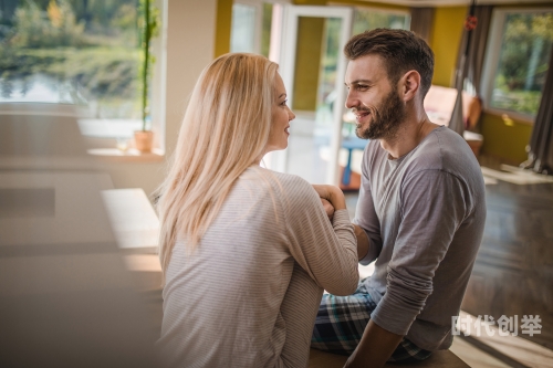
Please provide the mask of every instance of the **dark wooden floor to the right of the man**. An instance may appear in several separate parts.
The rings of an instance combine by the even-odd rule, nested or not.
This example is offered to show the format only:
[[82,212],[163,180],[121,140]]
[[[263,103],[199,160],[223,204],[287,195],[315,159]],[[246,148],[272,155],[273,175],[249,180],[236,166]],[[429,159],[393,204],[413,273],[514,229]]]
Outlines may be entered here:
[[[497,161],[481,164],[509,174]],[[494,320],[518,316],[519,336],[552,349],[553,182],[495,180],[487,185],[487,207],[484,235],[461,308]],[[524,315],[540,315],[541,334],[521,333]]]

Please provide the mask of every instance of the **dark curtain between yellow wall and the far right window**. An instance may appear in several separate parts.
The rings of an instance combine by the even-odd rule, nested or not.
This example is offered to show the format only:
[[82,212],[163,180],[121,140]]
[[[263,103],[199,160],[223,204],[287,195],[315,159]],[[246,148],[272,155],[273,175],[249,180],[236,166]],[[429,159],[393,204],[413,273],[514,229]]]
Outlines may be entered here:
[[465,82],[468,82],[468,85],[472,86],[469,88],[472,91],[469,92],[481,98],[480,81],[492,8],[492,6],[471,7],[469,14],[477,18],[478,24],[476,29],[470,31],[465,28],[462,32],[455,80],[457,99],[451,113],[451,119],[449,120],[449,128],[461,136],[465,132],[465,122],[462,119],[462,90],[465,88]]

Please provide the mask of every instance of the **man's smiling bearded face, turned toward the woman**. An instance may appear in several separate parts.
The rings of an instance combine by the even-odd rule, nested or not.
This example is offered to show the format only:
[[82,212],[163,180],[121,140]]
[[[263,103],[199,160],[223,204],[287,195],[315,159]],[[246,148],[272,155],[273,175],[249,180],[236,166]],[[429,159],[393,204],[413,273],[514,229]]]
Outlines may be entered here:
[[406,117],[405,104],[392,85],[378,55],[365,55],[347,65],[346,107],[356,116],[355,134],[364,139],[393,140]]

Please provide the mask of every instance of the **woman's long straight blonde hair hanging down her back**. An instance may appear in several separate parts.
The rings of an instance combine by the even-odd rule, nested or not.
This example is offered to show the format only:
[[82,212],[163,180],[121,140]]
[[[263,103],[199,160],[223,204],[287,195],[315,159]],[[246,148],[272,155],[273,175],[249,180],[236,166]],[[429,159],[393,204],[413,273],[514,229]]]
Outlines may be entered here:
[[201,73],[180,127],[166,180],[157,190],[164,272],[185,236],[189,254],[238,177],[262,157],[271,128],[278,65],[254,54],[226,54]]

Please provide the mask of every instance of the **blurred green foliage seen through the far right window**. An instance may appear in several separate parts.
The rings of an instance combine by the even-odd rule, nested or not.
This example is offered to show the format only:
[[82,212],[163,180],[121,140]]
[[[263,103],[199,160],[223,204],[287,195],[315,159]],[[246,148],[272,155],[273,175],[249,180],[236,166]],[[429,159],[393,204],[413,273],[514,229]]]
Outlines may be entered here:
[[553,45],[553,11],[508,12],[490,106],[535,116]]

